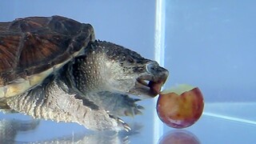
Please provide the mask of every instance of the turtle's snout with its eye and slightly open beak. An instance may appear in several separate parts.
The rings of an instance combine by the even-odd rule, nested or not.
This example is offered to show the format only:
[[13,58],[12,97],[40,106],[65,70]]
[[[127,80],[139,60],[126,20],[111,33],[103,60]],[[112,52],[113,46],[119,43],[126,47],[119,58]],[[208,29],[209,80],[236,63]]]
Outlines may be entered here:
[[146,64],[146,73],[139,76],[135,82],[138,95],[154,98],[159,94],[168,75],[169,71],[159,66],[157,62]]

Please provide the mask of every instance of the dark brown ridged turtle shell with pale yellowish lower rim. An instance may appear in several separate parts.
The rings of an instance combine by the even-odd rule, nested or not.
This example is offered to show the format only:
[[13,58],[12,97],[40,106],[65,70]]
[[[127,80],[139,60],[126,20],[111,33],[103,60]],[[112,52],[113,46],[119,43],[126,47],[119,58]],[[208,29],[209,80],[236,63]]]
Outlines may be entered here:
[[0,98],[22,94],[82,54],[94,29],[70,18],[29,17],[0,22]]

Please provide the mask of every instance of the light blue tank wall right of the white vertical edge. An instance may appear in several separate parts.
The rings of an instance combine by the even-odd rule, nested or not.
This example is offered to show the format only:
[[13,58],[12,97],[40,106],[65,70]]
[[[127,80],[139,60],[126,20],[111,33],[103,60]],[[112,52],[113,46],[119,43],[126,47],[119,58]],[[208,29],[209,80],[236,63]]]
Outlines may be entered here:
[[[186,129],[202,143],[251,143],[256,130],[255,2],[166,1],[166,87],[198,86],[202,118]],[[163,132],[170,128],[164,126]]]

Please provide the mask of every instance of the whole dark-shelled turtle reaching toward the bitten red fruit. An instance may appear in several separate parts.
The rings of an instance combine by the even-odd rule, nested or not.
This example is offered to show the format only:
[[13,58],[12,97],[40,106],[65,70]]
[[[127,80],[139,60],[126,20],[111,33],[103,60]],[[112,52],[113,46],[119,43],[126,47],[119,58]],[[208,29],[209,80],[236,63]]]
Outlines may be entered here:
[[[123,46],[97,41],[90,24],[61,16],[0,22],[0,108],[91,130],[130,130],[168,70]],[[129,95],[139,98],[130,98]]]

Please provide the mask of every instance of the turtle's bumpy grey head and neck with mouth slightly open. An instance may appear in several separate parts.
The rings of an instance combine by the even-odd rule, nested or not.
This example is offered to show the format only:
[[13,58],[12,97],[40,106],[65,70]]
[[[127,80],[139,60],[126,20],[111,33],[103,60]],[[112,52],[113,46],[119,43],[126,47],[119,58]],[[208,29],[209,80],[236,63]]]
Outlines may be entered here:
[[158,62],[111,42],[91,42],[83,57],[78,67],[84,84],[78,85],[90,91],[154,97],[169,74]]

